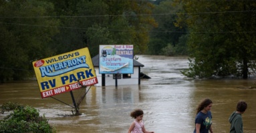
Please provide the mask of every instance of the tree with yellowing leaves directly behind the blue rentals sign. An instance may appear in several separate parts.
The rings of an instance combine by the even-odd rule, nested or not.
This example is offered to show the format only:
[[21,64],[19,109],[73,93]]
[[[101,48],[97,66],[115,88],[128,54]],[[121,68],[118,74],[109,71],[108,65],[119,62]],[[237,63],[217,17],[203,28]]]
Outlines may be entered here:
[[148,1],[106,1],[109,29],[118,44],[134,45],[134,54],[146,52],[150,29],[157,26],[151,17],[154,5]]

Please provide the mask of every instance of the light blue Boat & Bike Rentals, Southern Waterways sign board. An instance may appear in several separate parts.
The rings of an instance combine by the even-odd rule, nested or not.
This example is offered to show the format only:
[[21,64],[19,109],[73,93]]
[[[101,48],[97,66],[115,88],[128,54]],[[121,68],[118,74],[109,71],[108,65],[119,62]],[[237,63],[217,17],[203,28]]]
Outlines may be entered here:
[[100,45],[100,74],[132,74],[133,45]]

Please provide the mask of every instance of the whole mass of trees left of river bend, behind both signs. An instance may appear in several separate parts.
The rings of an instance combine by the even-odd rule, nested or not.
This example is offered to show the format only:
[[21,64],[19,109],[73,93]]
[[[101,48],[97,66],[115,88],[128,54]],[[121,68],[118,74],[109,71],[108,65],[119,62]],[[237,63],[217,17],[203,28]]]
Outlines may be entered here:
[[99,45],[148,48],[156,27],[149,1],[0,0],[0,82],[34,74],[32,61]]

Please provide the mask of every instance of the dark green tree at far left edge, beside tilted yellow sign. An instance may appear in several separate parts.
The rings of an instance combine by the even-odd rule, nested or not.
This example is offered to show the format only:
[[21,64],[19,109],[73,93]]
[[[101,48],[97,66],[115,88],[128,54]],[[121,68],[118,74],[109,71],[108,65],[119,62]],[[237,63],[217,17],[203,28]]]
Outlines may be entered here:
[[21,80],[33,74],[31,62],[51,55],[57,33],[53,5],[43,1],[4,1],[0,5],[0,80]]

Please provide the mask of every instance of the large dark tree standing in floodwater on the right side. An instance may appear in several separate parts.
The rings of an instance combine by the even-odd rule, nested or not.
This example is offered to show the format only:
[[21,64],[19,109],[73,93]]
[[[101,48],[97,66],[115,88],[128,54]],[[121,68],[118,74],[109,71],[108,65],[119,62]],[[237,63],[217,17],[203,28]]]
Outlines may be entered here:
[[256,1],[176,1],[183,5],[177,25],[188,26],[186,76],[243,76],[256,59]]

